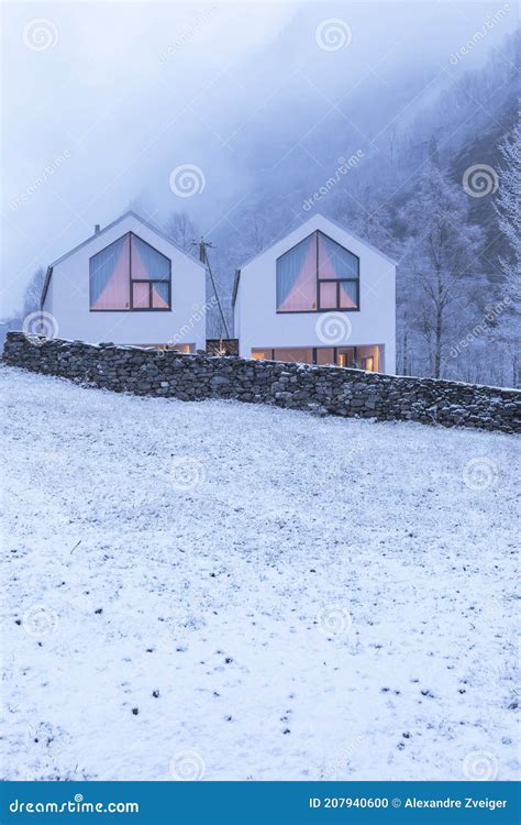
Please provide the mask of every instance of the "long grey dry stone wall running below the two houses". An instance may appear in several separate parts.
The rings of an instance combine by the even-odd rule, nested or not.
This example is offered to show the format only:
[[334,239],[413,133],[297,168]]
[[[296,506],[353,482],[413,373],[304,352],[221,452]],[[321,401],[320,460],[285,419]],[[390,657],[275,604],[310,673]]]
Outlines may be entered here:
[[3,360],[117,393],[186,402],[234,398],[318,415],[521,430],[521,392],[517,389],[109,343],[31,341],[22,332],[8,334]]

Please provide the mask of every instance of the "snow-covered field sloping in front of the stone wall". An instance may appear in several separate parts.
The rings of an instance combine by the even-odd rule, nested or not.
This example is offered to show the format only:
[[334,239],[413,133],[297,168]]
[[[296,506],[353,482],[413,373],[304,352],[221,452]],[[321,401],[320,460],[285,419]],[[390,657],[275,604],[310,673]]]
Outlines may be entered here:
[[513,437],[1,370],[8,779],[513,779]]

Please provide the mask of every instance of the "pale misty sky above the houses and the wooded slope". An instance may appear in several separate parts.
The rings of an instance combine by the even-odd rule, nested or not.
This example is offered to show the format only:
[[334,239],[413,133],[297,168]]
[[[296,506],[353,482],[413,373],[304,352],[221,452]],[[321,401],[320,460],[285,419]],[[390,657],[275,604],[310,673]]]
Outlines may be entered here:
[[[463,0],[8,3],[3,18],[2,314],[38,266],[132,201],[159,222],[187,210],[211,239],[266,170],[284,175],[297,145],[306,167],[313,125],[332,109],[352,123],[353,151],[385,112],[386,88],[424,76],[426,106],[517,25],[514,2]],[[319,43],[330,19],[343,47]],[[380,95],[373,120],[350,110],[365,84]],[[170,182],[185,164],[204,177],[190,198]]]

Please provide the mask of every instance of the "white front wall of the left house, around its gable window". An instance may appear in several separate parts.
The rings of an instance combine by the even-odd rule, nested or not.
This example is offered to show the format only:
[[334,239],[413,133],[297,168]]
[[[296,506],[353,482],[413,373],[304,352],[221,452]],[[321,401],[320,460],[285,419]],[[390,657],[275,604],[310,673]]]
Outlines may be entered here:
[[[171,311],[91,312],[89,309],[89,258],[126,232],[134,232],[171,261]],[[134,216],[126,216],[106,232],[53,267],[44,310],[57,321],[58,338],[91,343],[195,344],[206,346],[206,273]],[[199,311],[198,311],[199,309]]]

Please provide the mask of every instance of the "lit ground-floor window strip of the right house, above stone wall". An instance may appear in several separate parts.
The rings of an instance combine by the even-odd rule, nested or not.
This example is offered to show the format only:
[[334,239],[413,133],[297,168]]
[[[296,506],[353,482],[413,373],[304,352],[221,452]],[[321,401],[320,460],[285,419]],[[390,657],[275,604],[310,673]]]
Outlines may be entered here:
[[384,371],[384,345],[364,346],[255,346],[252,358],[264,361],[288,361],[298,364],[344,366],[368,372]]

